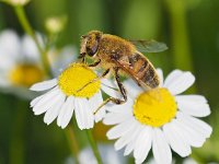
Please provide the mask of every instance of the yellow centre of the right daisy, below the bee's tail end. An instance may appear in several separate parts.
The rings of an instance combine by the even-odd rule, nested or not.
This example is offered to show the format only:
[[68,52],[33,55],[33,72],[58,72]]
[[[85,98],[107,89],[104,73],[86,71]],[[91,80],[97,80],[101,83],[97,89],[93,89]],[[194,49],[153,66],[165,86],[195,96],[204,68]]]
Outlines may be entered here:
[[161,127],[176,115],[174,96],[166,89],[153,89],[141,93],[134,104],[134,116],[151,127]]

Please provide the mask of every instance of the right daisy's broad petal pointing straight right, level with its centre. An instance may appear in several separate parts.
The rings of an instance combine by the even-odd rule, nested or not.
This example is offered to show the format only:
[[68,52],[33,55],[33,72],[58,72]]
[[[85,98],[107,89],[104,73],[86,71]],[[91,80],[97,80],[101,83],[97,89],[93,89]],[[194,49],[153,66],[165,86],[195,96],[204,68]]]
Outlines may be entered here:
[[181,98],[177,97],[178,109],[183,113],[195,116],[195,117],[205,117],[210,115],[210,107],[206,103],[199,103],[198,101],[193,102],[193,98]]

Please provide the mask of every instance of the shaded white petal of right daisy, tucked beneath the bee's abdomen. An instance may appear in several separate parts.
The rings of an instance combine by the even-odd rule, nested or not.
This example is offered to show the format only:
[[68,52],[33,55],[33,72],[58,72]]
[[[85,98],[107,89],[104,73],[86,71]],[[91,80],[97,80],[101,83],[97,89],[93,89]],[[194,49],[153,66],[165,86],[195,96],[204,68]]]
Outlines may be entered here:
[[136,98],[141,92],[143,92],[143,90],[140,86],[138,86],[132,79],[124,81],[123,84],[125,89],[128,90],[127,94],[132,98]]

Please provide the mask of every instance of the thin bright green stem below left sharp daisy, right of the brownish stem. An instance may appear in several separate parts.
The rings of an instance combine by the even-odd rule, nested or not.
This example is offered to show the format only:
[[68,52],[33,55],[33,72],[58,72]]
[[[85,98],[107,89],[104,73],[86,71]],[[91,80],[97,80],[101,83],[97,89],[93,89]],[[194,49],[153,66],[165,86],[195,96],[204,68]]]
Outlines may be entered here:
[[101,154],[99,152],[96,142],[95,142],[94,138],[93,138],[93,133],[92,133],[92,131],[90,129],[87,130],[87,136],[88,136],[89,142],[91,144],[93,154],[95,155],[97,163],[101,164],[102,163]]

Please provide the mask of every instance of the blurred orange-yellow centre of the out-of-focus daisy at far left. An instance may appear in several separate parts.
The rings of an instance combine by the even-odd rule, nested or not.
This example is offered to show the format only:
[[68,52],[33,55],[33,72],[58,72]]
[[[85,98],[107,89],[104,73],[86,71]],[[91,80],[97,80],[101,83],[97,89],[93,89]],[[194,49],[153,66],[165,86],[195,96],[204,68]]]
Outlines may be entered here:
[[18,65],[9,74],[12,84],[26,87],[42,81],[44,77],[45,73],[43,70],[38,66],[32,63]]

